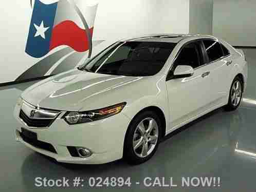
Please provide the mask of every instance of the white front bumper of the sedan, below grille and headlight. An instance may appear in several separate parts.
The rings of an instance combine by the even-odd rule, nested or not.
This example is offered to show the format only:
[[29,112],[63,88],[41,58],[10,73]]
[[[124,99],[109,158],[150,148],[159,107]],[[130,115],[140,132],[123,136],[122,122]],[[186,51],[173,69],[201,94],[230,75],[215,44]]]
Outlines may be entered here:
[[[33,146],[21,137],[21,127],[16,128],[16,140],[25,144],[34,151],[64,163],[76,164],[102,164],[121,159],[123,156],[123,143],[126,129],[130,119],[119,113],[115,116],[77,125],[68,125],[59,116],[48,128],[35,129],[28,127],[19,118],[21,107],[15,106],[14,117],[21,127],[35,132],[38,140],[51,144],[57,153]],[[88,158],[72,157],[67,146],[85,147],[92,151]]]

